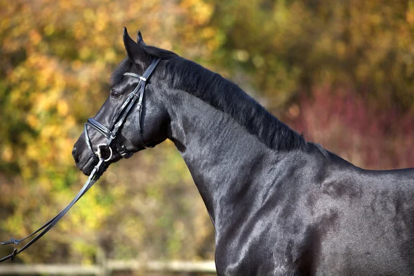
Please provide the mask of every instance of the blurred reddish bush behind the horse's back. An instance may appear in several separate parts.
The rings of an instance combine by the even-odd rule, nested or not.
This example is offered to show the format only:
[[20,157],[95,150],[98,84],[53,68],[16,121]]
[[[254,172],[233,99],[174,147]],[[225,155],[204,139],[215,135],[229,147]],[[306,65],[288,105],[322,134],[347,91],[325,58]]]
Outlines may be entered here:
[[[414,116],[399,108],[378,108],[351,89],[313,89],[287,112],[288,124],[308,141],[363,168],[414,167]],[[296,110],[296,112],[292,112]],[[299,110],[299,111],[297,111]]]

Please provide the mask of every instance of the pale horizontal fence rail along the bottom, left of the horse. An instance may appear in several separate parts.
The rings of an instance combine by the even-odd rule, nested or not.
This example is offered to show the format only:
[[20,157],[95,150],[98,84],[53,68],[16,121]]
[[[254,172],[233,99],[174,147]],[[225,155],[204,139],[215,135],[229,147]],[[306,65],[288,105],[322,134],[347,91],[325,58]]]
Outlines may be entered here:
[[80,266],[70,264],[0,264],[0,275],[110,275],[121,271],[174,273],[208,273],[217,275],[214,261],[138,262],[107,260],[103,264]]

